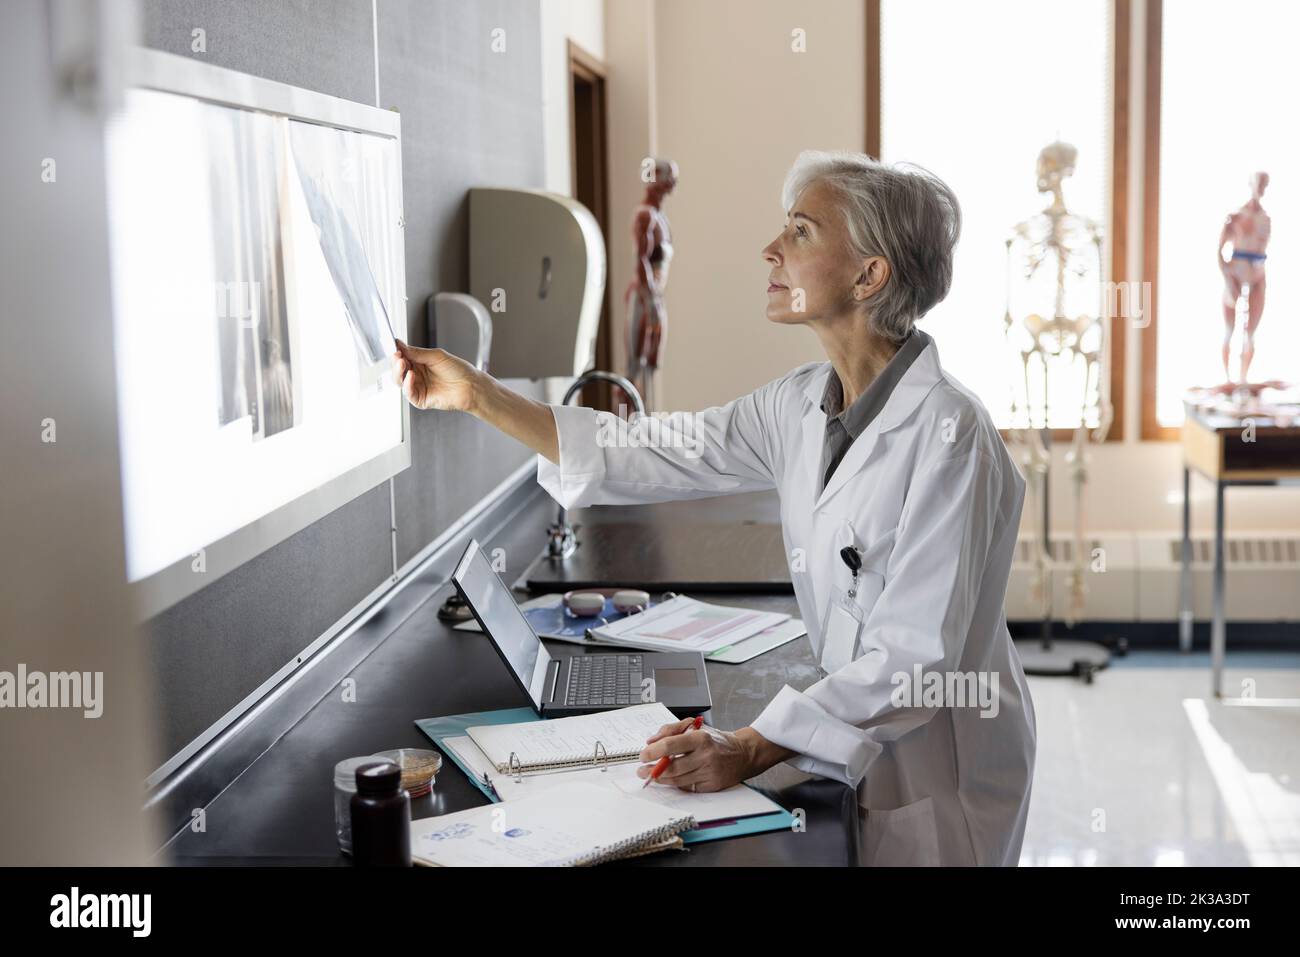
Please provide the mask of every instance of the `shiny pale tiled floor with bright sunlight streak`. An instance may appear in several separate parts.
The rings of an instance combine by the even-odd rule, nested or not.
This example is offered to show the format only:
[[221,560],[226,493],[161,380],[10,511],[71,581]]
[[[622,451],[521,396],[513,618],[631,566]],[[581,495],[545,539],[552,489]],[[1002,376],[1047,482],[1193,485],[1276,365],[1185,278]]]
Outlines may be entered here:
[[[1022,865],[1300,865],[1300,654],[1134,651],[1031,677],[1039,752]],[[1290,701],[1290,706],[1286,702]]]

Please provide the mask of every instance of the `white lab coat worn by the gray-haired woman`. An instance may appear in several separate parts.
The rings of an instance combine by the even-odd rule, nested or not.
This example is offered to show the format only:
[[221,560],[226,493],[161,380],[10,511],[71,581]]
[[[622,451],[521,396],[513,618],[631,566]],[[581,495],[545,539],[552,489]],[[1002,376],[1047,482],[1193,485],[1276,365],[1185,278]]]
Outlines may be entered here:
[[[863,863],[1014,865],[1036,739],[1004,612],[1024,480],[930,342],[818,493],[831,374],[828,361],[810,363],[658,421],[552,406],[560,463],[538,455],[537,480],[571,508],[776,488],[819,661],[832,585],[850,583],[840,549],[863,549],[857,655],[803,692],[783,688],[753,727],[797,752],[796,767],[857,787]],[[893,676],[915,666],[989,685],[996,675],[996,716],[949,706],[959,701],[897,706]]]

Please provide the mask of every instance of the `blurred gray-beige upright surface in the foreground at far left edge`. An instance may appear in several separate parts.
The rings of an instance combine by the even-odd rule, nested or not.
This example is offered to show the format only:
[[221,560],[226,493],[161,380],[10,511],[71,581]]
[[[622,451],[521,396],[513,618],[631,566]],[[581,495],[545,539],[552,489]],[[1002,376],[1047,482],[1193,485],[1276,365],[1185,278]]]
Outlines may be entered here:
[[126,590],[101,116],[69,95],[52,53],[83,48],[60,23],[40,0],[0,10],[0,670],[99,672],[101,713],[0,711],[5,869],[143,866],[160,836],[140,814],[156,754]]

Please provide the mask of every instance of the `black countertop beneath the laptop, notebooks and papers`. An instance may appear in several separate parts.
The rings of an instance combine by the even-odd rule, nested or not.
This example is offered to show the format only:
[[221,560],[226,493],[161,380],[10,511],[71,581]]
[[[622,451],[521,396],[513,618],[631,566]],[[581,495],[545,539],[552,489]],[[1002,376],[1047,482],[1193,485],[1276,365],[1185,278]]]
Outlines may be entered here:
[[[757,502],[755,507],[770,505]],[[580,510],[575,518],[619,512],[608,518],[625,521],[637,515],[653,528],[660,520],[658,508]],[[508,567],[503,579],[510,581],[536,558],[551,519],[554,503],[538,492],[484,542],[489,549],[506,549]],[[164,859],[182,866],[346,865],[348,858],[339,853],[334,839],[335,762],[391,748],[432,748],[415,727],[417,718],[526,706],[482,635],[454,631],[437,619],[438,606],[450,592],[450,584],[430,590],[416,612],[352,670],[355,701],[344,701],[342,688],[321,700],[208,805],[205,831],[183,831],[170,841]],[[793,596],[711,594],[710,599],[798,614]],[[564,642],[547,646],[558,655],[586,653]],[[816,680],[807,638],[744,664],[710,663],[707,668],[714,707],[706,720],[727,729],[751,722],[784,684],[806,688]],[[784,765],[750,783],[786,809],[802,809],[805,831],[694,844],[686,853],[655,854],[620,866],[855,862],[858,818],[850,788],[810,779]],[[411,813],[424,818],[482,804],[486,798],[481,792],[451,761],[445,761],[433,793],[413,800]]]

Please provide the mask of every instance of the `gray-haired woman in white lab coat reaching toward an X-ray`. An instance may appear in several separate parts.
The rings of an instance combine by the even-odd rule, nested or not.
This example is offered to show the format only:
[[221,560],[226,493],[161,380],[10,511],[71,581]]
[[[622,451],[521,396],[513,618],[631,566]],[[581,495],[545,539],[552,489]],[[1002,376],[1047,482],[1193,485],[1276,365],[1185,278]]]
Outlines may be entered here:
[[822,677],[746,728],[662,728],[642,776],[675,755],[662,783],[716,791],[785,761],[857,788],[863,863],[1014,865],[1036,733],[1004,614],[1024,481],[915,328],[952,285],[957,198],[844,152],[801,153],[781,198],[767,319],[827,361],[655,421],[533,402],[441,350],[399,343],[394,373],[412,404],[534,449],[569,508],[779,492]]

